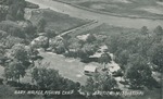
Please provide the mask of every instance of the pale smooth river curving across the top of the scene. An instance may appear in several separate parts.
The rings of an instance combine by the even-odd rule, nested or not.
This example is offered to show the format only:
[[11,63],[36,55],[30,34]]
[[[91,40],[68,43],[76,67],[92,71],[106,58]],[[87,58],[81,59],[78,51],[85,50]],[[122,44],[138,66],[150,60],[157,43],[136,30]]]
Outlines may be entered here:
[[100,14],[83,9],[78,9],[62,2],[52,0],[26,0],[36,4],[39,4],[41,9],[51,9],[53,11],[68,14],[73,17],[97,20],[100,23],[106,23],[113,26],[129,27],[129,28],[141,28],[148,26],[149,29],[155,28],[158,25],[163,27],[163,20],[149,20],[149,18],[129,18],[112,16],[106,14]]

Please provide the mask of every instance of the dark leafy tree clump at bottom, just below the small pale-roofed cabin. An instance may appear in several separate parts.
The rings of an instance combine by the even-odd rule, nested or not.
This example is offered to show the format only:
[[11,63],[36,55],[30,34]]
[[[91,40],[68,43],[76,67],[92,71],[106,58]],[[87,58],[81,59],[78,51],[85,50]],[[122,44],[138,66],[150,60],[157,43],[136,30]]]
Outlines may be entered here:
[[91,96],[95,91],[111,91],[117,86],[116,81],[108,73],[97,74],[89,77],[83,89],[88,96]]

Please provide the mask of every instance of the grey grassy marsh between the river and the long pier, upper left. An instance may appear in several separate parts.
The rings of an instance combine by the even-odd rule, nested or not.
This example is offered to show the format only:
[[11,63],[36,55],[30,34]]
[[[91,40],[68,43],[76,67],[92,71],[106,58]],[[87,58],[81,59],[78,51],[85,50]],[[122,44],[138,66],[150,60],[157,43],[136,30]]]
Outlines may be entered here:
[[38,23],[39,18],[45,18],[47,23],[46,28],[54,29],[57,33],[62,33],[64,30],[78,27],[89,22],[88,20],[84,21],[76,17],[71,17],[67,14],[58,13],[48,9],[34,10],[32,12],[32,16],[29,20],[34,25]]

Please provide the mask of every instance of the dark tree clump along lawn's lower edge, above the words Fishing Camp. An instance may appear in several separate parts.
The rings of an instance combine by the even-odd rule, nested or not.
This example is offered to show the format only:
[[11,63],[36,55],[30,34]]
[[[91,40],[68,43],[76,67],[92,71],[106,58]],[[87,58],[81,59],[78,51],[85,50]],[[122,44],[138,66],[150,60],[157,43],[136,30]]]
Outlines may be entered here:
[[[48,66],[48,64],[43,64]],[[67,78],[63,78],[59,71],[46,67],[35,67],[32,73],[33,82],[39,87],[39,89],[52,89],[52,90],[78,90],[77,83],[74,83]]]

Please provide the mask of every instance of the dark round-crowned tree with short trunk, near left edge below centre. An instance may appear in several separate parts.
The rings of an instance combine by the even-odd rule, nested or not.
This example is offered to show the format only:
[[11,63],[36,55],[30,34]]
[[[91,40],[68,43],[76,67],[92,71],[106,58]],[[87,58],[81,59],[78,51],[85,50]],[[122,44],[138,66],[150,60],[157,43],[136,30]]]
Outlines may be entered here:
[[7,81],[12,79],[18,81],[20,83],[20,78],[24,77],[24,75],[25,75],[25,66],[16,60],[9,63],[9,65],[4,69],[4,76]]

